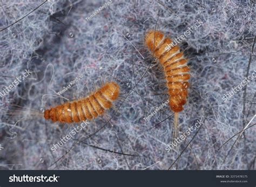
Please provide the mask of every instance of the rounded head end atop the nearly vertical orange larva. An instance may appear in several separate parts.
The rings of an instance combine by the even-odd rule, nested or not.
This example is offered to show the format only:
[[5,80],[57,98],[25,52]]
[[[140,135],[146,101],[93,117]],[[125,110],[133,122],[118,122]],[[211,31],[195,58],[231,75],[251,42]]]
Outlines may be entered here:
[[164,39],[164,33],[161,31],[150,30],[146,33],[145,36],[145,45],[149,47],[149,50],[152,52],[157,49],[161,44],[161,41]]

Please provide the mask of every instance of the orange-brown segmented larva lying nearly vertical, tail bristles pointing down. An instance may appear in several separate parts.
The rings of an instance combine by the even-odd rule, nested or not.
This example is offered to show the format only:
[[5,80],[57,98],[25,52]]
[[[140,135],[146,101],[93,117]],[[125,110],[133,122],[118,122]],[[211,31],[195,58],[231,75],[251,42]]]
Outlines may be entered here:
[[146,33],[145,44],[155,58],[164,67],[164,73],[169,89],[169,105],[173,112],[179,113],[184,108],[188,95],[188,80],[190,79],[190,68],[187,60],[180,52],[179,46],[168,49],[172,40],[164,36],[160,31],[149,31]]

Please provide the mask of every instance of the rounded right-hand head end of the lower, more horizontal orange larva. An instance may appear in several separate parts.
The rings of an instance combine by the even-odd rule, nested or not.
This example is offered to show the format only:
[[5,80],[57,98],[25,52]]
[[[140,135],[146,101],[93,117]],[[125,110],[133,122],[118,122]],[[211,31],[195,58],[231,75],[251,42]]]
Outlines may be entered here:
[[107,99],[114,101],[119,96],[120,87],[116,82],[109,82],[103,86],[100,91]]

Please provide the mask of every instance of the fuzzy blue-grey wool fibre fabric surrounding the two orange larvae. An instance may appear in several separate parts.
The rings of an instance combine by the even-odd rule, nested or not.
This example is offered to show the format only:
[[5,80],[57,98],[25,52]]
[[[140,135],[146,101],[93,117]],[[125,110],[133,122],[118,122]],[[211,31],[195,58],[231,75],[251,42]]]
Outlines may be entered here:
[[[254,170],[255,79],[228,101],[222,98],[256,71],[255,1],[112,0],[86,20],[106,2],[0,1],[0,92],[26,69],[33,72],[0,98],[0,169]],[[175,38],[197,19],[203,25],[179,44],[191,67],[180,132],[197,120],[203,125],[167,152],[169,106],[144,120],[169,99],[144,36],[156,28]],[[80,123],[35,114],[81,99],[107,81],[122,90],[114,107],[53,152],[53,144]],[[238,134],[250,121],[252,127]]]

